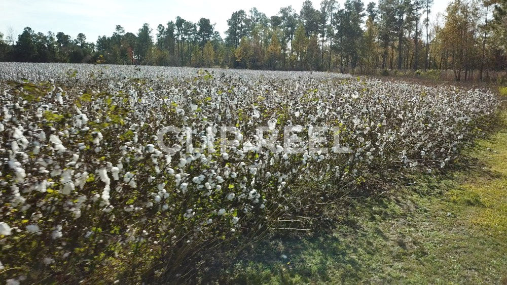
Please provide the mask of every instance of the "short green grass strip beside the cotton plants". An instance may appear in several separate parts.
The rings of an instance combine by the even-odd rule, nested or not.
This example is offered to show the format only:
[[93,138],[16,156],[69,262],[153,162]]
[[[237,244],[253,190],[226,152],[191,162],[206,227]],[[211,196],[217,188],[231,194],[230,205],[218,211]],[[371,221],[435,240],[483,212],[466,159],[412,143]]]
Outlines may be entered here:
[[257,246],[219,281],[507,284],[507,130],[468,154],[447,176],[351,199],[332,233]]

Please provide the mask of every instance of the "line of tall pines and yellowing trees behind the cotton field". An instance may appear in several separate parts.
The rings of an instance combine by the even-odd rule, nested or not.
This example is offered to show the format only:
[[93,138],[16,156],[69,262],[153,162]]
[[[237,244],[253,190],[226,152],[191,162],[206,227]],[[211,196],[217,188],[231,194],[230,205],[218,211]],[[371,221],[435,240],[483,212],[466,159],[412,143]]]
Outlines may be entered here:
[[[25,27],[0,33],[0,61],[230,67],[273,70],[452,70],[456,80],[473,72],[507,68],[507,0],[453,0],[430,19],[433,0],[365,3],[305,1],[298,12],[283,7],[268,17],[256,8],[227,20],[225,38],[207,18],[177,17],[154,32],[117,25],[111,36],[87,42]],[[477,75],[477,74],[476,74]]]

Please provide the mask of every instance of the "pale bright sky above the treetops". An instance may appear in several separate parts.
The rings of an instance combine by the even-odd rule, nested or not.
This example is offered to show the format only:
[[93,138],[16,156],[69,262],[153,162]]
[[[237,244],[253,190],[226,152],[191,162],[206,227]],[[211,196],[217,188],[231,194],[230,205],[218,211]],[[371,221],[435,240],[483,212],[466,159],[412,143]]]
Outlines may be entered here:
[[[122,25],[126,32],[137,33],[143,23],[149,23],[154,30],[159,24],[166,25],[177,16],[192,22],[209,18],[216,23],[215,30],[224,36],[227,19],[234,11],[252,7],[268,17],[276,15],[281,7],[291,5],[298,13],[304,0],[0,0],[0,32],[4,38],[9,30],[20,34],[29,26],[35,32],[64,32],[73,38],[82,32],[88,42],[95,42],[98,36],[110,36],[116,25]],[[435,0],[432,18],[438,12],[444,13],[450,0]],[[316,9],[321,0],[312,0]],[[342,7],[345,0],[337,1]],[[364,0],[365,7],[369,0]],[[373,2],[377,2],[374,0]]]

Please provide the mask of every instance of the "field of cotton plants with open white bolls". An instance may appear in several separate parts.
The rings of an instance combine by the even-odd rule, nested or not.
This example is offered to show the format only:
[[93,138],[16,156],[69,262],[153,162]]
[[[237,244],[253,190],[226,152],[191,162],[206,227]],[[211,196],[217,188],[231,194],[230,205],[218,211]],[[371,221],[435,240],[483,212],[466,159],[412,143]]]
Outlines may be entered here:
[[0,63],[0,98],[10,282],[177,278],[370,181],[445,169],[498,107],[335,73],[21,63]]

